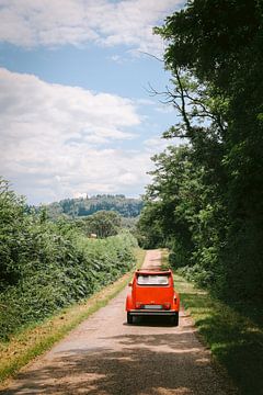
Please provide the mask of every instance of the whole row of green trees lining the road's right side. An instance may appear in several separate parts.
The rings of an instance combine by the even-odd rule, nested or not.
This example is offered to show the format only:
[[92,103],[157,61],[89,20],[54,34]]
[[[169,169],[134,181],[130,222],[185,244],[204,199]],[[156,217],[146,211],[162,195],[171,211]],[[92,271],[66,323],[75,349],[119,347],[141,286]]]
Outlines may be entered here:
[[169,246],[173,264],[217,295],[261,304],[262,2],[188,1],[156,33],[168,43],[162,94],[179,123],[153,158],[140,242]]

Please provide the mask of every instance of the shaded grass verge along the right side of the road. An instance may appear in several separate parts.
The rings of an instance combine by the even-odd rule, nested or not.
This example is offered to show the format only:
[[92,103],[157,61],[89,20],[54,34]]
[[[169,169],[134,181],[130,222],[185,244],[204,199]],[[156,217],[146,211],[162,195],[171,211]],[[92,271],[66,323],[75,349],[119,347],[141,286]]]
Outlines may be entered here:
[[242,395],[263,394],[263,328],[244,314],[211,297],[204,290],[174,274],[185,309],[191,314],[201,339]]

